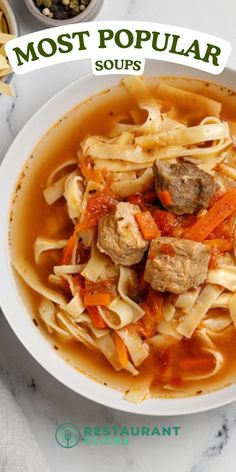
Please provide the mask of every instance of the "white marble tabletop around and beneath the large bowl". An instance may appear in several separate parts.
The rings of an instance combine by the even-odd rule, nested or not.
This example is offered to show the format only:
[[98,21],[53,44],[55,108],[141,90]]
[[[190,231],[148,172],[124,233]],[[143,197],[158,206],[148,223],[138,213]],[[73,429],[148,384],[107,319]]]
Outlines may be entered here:
[[[41,29],[23,0],[11,0],[21,34]],[[191,27],[233,44],[229,66],[236,68],[235,0],[105,0],[99,19],[139,19]],[[15,99],[0,97],[0,157],[31,115],[56,91],[88,72],[88,62],[60,65],[18,76]],[[0,317],[0,373],[22,407],[52,472],[86,469],[104,472],[165,470],[172,472],[235,471],[236,403],[211,412],[179,418],[128,415],[74,394],[45,372],[26,352]],[[133,438],[128,446],[60,448],[58,424],[180,425],[178,437]],[[1,471],[4,472],[4,471]]]

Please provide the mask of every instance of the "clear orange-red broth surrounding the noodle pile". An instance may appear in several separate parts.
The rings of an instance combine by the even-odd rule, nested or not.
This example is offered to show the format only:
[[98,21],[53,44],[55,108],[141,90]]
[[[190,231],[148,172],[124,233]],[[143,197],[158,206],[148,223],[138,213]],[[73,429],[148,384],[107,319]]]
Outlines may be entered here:
[[[235,131],[236,105],[232,92],[222,87],[190,79],[162,79],[165,83],[185,90],[192,90],[202,96],[220,101],[223,105],[220,118],[227,120],[232,133]],[[150,90],[154,93],[157,79],[149,79]],[[76,97],[75,97],[76,101]],[[14,196],[11,214],[10,243],[12,259],[23,256],[37,269],[45,286],[52,268],[61,262],[61,251],[45,253],[40,264],[35,266],[34,243],[38,236],[51,239],[68,239],[73,232],[73,222],[68,216],[66,201],[60,198],[53,205],[45,201],[43,191],[47,188],[48,177],[63,162],[77,158],[80,143],[88,136],[108,137],[117,122],[132,123],[130,110],[136,107],[135,99],[123,86],[107,90],[100,95],[78,105],[58,122],[37,145],[27,161]],[[168,112],[170,104],[163,103]],[[188,126],[198,124],[199,111],[191,111],[186,103],[176,106],[176,119]],[[141,111],[139,119],[145,121],[147,112]],[[71,169],[73,170],[73,165]],[[52,348],[58,350],[66,361],[93,379],[122,391],[151,385],[151,394],[174,396],[199,394],[221,388],[236,380],[236,332],[231,323],[214,336],[215,350],[223,356],[223,365],[213,377],[207,374],[214,369],[215,359],[206,351],[204,343],[195,334],[190,339],[182,338],[169,346],[150,346],[150,354],[138,367],[139,375],[121,370],[116,372],[99,351],[85,347],[76,340],[65,341],[62,336],[49,334],[38,316],[41,296],[17,276],[22,296],[29,307],[32,320],[40,335],[44,335]],[[164,294],[165,297],[165,294]],[[227,315],[228,310],[212,309],[207,316],[217,318]],[[200,361],[199,361],[200,359]],[[194,370],[199,380],[184,380]],[[184,376],[183,376],[184,373]]]

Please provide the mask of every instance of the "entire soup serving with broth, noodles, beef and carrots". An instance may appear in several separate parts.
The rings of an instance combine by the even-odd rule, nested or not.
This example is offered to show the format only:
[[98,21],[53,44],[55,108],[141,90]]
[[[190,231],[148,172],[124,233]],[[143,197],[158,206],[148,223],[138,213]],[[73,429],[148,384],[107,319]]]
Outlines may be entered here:
[[235,100],[205,80],[126,77],[25,163],[14,283],[34,335],[101,402],[171,414],[236,380]]

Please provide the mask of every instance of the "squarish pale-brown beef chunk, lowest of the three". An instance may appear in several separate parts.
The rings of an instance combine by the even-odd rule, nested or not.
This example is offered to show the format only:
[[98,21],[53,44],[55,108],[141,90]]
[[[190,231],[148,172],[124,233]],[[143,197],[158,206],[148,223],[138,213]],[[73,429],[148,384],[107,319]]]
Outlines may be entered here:
[[207,244],[157,238],[150,245],[144,279],[154,290],[183,293],[206,280],[209,260]]

